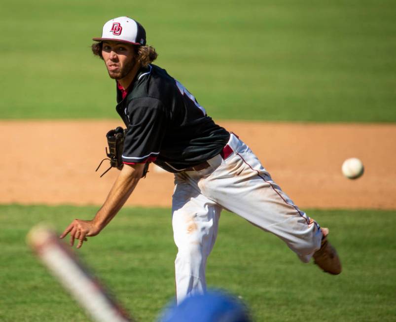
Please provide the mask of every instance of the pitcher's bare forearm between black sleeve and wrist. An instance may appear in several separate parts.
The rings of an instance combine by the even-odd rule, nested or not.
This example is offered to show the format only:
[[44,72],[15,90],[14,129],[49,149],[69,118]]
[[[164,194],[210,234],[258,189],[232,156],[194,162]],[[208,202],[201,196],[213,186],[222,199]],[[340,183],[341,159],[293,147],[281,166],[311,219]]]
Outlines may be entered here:
[[125,204],[142,176],[140,167],[124,166],[115,180],[108,197],[93,219],[93,224],[102,230]]

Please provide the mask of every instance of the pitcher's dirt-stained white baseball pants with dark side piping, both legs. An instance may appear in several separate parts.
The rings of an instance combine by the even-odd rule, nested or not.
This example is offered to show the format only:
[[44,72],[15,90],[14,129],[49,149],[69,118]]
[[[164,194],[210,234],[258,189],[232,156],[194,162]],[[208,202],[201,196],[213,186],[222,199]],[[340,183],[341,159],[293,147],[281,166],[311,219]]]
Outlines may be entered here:
[[206,289],[206,261],[216,241],[222,209],[275,234],[303,262],[320,249],[319,225],[293,204],[237,136],[231,133],[227,145],[231,154],[225,160],[219,154],[208,160],[207,169],[175,174],[172,225],[178,247],[178,303]]

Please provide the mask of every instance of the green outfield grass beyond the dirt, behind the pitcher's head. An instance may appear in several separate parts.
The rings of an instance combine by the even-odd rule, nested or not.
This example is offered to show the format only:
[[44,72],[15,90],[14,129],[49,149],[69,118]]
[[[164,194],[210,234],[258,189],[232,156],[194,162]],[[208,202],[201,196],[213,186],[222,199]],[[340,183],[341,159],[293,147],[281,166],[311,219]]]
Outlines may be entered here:
[[3,1],[0,117],[116,118],[89,46],[120,15],[214,118],[396,121],[393,0]]

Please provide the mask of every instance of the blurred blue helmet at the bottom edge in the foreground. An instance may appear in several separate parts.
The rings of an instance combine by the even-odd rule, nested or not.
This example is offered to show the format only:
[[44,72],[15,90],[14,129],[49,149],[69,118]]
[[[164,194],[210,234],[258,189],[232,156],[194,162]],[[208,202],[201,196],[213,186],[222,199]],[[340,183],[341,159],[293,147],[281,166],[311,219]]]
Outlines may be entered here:
[[251,322],[247,307],[235,297],[209,291],[187,297],[173,306],[159,322]]

